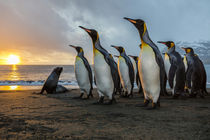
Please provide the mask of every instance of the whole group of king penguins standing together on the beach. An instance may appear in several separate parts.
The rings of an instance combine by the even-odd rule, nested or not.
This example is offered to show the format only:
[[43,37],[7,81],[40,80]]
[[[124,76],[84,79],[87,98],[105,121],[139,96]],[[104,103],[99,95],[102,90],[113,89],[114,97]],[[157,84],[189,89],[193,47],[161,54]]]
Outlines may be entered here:
[[[141,48],[139,57],[127,55],[122,46],[111,45],[119,52],[118,62],[101,46],[99,34],[94,29],[79,26],[86,31],[93,45],[93,73],[91,66],[84,56],[82,47],[69,45],[77,51],[75,59],[75,76],[81,95],[75,98],[88,99],[93,97],[93,81],[97,86],[99,100],[94,104],[116,103],[115,95],[132,97],[134,82],[138,92],[143,92],[144,103],[137,105],[147,107],[152,102],[151,109],[160,107],[160,95],[168,95],[167,81],[172,90],[173,98],[204,97],[206,91],[206,71],[202,61],[192,48],[182,48],[184,58],[176,51],[173,41],[158,41],[167,47],[164,58],[150,39],[146,23],[142,19],[124,18],[132,23],[139,32]],[[186,94],[186,91],[189,94]],[[83,98],[84,93],[87,98]],[[109,101],[104,102],[104,97]]]

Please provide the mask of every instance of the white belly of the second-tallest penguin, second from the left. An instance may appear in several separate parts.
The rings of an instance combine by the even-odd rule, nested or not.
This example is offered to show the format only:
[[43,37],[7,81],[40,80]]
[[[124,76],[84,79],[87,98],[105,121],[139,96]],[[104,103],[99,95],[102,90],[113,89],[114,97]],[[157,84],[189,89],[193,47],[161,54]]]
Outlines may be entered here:
[[94,52],[94,73],[97,89],[107,96],[112,96],[114,81],[112,79],[111,68],[105,61],[103,54],[97,50]]

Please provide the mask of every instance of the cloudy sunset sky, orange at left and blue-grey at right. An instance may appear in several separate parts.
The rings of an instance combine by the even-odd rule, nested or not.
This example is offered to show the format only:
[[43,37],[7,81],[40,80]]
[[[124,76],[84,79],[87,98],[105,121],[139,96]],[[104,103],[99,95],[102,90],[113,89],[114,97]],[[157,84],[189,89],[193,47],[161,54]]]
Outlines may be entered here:
[[125,16],[144,19],[155,43],[210,40],[209,7],[210,0],[0,0],[0,64],[11,54],[20,64],[73,64],[69,44],[92,63],[92,42],[79,25],[96,29],[112,54],[111,44],[138,55],[140,39]]

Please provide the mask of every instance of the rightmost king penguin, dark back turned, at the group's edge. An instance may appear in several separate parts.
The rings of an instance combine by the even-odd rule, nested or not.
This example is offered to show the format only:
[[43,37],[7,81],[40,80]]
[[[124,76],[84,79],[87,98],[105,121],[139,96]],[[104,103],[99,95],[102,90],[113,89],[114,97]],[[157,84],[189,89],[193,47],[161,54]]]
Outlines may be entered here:
[[198,55],[194,53],[194,50],[190,47],[182,48],[186,52],[187,58],[187,73],[186,73],[186,85],[188,89],[191,89],[191,97],[196,97],[199,94],[204,97],[207,94],[206,91],[206,70],[203,62],[199,59]]

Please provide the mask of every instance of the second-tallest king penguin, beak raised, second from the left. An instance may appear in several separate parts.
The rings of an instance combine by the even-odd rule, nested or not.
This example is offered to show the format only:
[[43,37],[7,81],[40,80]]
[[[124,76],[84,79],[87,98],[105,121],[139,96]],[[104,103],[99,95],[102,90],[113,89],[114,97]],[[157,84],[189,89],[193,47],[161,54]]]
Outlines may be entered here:
[[112,104],[116,102],[114,92],[118,85],[118,81],[116,80],[118,73],[114,60],[109,56],[107,50],[101,46],[96,30],[87,29],[82,26],[79,27],[88,33],[93,43],[94,74],[99,94],[99,100],[95,104],[103,104],[104,96],[108,96],[109,98],[109,102],[106,104]]

